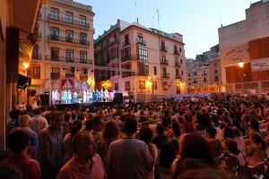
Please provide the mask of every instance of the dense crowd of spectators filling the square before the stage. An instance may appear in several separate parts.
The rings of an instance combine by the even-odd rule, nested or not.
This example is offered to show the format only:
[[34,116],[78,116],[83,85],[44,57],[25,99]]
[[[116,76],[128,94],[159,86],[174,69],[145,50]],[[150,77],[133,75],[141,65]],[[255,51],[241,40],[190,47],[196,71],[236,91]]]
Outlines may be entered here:
[[269,177],[265,97],[223,93],[64,111],[32,107],[10,112],[1,177]]

